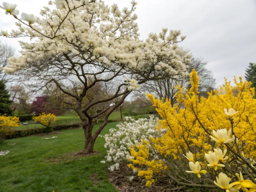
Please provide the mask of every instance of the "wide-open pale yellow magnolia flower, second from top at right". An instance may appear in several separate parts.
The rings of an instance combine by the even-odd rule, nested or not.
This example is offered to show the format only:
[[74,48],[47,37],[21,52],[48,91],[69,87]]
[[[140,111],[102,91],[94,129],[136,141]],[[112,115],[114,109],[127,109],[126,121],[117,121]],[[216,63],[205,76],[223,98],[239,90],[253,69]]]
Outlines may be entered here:
[[231,143],[235,140],[235,135],[230,139],[231,132],[231,129],[228,131],[227,129],[218,129],[217,132],[212,130],[213,136],[210,135],[210,137],[217,143]]

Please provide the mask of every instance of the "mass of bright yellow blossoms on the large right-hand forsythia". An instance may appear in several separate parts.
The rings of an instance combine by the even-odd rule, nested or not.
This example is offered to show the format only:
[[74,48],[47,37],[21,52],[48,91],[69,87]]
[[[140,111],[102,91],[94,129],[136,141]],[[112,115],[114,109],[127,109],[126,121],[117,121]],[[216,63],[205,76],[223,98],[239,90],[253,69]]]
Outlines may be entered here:
[[[219,90],[209,92],[207,98],[199,98],[199,77],[193,70],[190,75],[191,88],[184,90],[177,85],[177,103],[173,106],[170,100],[155,99],[153,95],[147,94],[161,117],[156,128],[167,131],[161,137],[150,138],[147,142],[132,146],[131,164],[128,167],[138,171],[139,176],[147,180],[146,185],[150,186],[156,181],[155,175],[172,174],[172,170],[169,170],[172,166],[168,165],[172,161],[183,160],[180,162],[185,163],[188,159],[194,169],[192,162],[196,159],[209,171],[224,166],[219,161],[228,159],[228,156],[225,157],[225,143],[235,151],[236,146],[240,146],[242,156],[256,159],[255,90],[251,87],[251,82],[242,81],[241,77],[239,81],[234,78],[234,82],[235,86],[231,86],[225,78],[225,84]],[[213,152],[210,150],[213,150],[214,141],[217,148]],[[153,159],[152,151],[157,151],[163,160]],[[187,153],[189,151],[191,154]],[[198,167],[194,169],[196,173]],[[220,177],[227,179],[226,175],[221,174]],[[221,187],[228,189],[228,180],[226,185]]]

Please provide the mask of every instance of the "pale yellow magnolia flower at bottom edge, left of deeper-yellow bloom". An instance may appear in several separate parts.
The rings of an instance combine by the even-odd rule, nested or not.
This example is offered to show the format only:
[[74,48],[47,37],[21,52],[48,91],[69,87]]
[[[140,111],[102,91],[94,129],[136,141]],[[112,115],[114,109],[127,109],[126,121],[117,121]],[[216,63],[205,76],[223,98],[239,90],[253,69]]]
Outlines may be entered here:
[[[216,182],[217,181],[217,182]],[[229,184],[229,182],[231,181],[231,179],[224,173],[220,173],[219,174],[219,178],[216,177],[216,181],[213,181],[215,185],[217,185],[218,187],[225,189],[226,192],[230,192],[230,191],[237,191],[235,188],[233,188],[234,185],[239,184],[239,181],[236,181],[234,183]]]

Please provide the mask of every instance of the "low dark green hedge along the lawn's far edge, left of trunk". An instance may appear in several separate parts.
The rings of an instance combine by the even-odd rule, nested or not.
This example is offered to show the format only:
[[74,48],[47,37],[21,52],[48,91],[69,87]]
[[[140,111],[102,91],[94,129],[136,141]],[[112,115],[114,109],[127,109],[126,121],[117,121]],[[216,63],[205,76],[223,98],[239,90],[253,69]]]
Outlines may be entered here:
[[[53,127],[53,131],[59,131],[63,129],[77,128],[77,127],[81,127],[81,124],[77,123],[77,124],[69,124],[69,125],[57,125]],[[6,139],[27,137],[29,135],[35,135],[40,133],[47,133],[45,127],[36,128],[36,129],[17,129],[7,134]]]

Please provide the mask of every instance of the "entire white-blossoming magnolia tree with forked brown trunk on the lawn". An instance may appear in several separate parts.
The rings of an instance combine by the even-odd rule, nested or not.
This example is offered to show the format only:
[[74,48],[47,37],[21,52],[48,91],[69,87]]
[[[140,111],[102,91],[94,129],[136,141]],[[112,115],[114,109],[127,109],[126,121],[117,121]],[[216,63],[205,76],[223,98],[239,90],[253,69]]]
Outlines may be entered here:
[[[19,18],[13,4],[3,3],[1,7],[17,20],[19,28],[10,33],[2,31],[2,36],[36,38],[34,43],[20,41],[21,56],[10,58],[5,72],[22,69],[24,75],[40,80],[43,86],[55,83],[63,93],[74,98],[74,102],[66,103],[74,106],[82,120],[85,154],[92,153],[108,116],[140,84],[188,75],[184,63],[189,62],[191,55],[177,46],[185,36],[180,36],[179,30],[164,28],[159,35],[150,33],[146,41],[140,40],[134,14],[136,4],[132,1],[131,8],[119,10],[116,4],[108,7],[99,0],[55,0],[49,1],[51,10],[49,7],[41,10],[41,18],[27,13]],[[122,80],[124,76],[126,79]],[[89,78],[93,79],[90,83]],[[72,92],[68,86],[75,81],[83,85],[79,92]],[[97,82],[111,81],[120,82],[111,96],[84,103],[87,92]],[[119,100],[114,105],[90,111],[93,106],[116,98]],[[92,135],[94,119],[102,114],[104,122]]]

